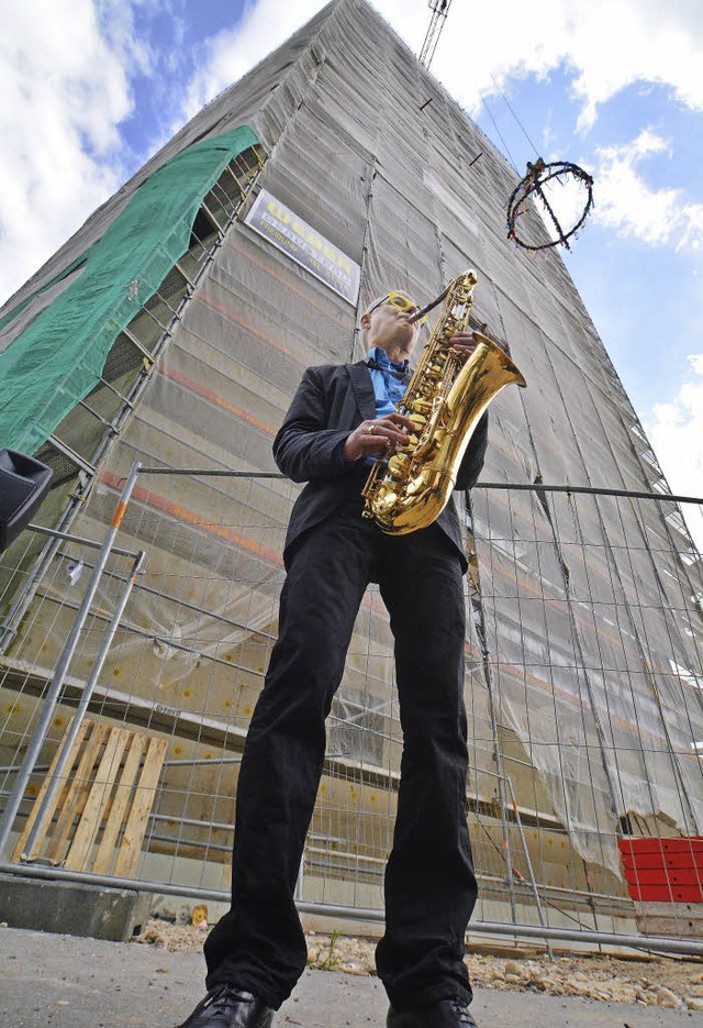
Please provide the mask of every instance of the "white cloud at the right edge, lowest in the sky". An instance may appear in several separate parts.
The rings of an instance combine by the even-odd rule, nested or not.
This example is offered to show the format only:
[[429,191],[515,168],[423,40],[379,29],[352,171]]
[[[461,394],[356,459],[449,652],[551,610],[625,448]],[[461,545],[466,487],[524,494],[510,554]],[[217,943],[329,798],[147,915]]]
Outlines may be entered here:
[[[688,358],[690,373],[672,400],[656,404],[645,430],[672,493],[703,497],[703,353]],[[684,511],[703,550],[703,509]]]

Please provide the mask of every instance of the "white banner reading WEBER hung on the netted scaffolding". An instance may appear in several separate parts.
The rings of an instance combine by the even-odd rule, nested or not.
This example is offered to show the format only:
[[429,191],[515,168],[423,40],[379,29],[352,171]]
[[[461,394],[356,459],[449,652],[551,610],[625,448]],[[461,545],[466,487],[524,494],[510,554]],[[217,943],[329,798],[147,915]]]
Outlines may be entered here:
[[261,189],[246,217],[255,232],[356,306],[361,269],[290,208]]

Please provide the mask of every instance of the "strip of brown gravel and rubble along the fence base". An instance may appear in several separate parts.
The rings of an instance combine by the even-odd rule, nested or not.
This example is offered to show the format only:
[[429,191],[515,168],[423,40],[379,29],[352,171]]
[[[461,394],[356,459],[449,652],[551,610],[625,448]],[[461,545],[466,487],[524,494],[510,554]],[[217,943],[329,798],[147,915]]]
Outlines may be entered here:
[[[136,943],[169,952],[200,952],[207,927],[152,919]],[[373,975],[375,942],[342,935],[308,932],[308,965],[322,971]],[[611,1003],[703,1012],[703,961],[643,957],[510,958],[467,955],[471,982],[479,988],[580,996]]]

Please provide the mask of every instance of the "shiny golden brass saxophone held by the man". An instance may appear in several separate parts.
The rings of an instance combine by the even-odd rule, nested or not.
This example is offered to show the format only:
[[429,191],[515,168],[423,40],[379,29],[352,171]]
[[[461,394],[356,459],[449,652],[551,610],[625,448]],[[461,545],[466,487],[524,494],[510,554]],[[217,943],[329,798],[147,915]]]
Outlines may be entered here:
[[469,323],[477,281],[476,272],[465,272],[413,319],[444,299],[405,396],[397,405],[415,431],[406,444],[390,445],[379,454],[361,491],[362,516],[391,535],[426,528],[439,517],[481,414],[504,386],[526,386],[505,351],[480,332],[473,333],[479,344],[464,364],[451,350],[451,336]]

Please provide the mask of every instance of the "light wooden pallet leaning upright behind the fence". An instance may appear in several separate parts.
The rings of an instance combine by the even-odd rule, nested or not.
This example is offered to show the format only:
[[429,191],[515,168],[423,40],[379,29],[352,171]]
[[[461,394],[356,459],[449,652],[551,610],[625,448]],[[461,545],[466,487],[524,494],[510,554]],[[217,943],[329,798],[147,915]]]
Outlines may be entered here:
[[166,739],[83,720],[32,853],[24,847],[58,762],[48,774],[12,855],[71,871],[131,877],[166,756]]

